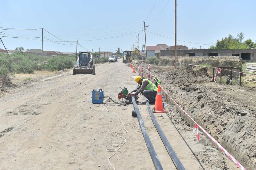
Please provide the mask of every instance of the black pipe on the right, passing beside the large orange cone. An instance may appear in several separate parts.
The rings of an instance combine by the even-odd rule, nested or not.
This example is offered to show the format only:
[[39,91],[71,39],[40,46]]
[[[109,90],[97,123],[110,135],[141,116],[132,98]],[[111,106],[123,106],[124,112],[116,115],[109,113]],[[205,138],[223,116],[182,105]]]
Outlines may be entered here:
[[167,152],[169,153],[175,167],[177,170],[185,170],[184,166],[182,165],[182,163],[180,162],[180,159],[177,157],[177,155],[175,154],[172,146],[170,145],[169,141],[167,140],[165,134],[163,133],[161,127],[159,126],[152,110],[150,109],[150,105],[148,103],[148,100],[146,100],[146,104],[147,104],[147,110],[148,113],[150,114],[150,117],[155,125],[155,128],[157,129],[157,132],[159,134],[159,136],[161,137],[163,144],[165,145],[165,148],[167,150]]

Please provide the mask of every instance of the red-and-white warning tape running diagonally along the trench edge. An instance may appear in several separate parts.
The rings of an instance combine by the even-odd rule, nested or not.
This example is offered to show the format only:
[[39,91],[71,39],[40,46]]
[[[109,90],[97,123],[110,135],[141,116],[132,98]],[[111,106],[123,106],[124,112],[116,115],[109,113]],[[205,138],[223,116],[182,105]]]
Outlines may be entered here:
[[[153,74],[151,73],[151,75],[153,76]],[[154,77],[154,76],[153,76]],[[160,84],[158,85],[159,87]],[[163,90],[165,92],[165,94],[172,99],[172,101],[182,110],[182,112],[184,112],[193,122],[195,122],[195,127],[193,129],[193,133],[195,131],[197,131],[197,140],[199,141],[200,136],[199,136],[199,129],[200,128],[227,156],[229,156],[229,158],[236,163],[236,165],[238,167],[240,167],[241,170],[246,170],[245,167],[243,167],[223,146],[221,146],[221,144],[218,143],[217,140],[215,140],[206,130],[204,130],[202,128],[202,126],[200,126],[199,124],[197,124],[197,122],[161,87],[161,90]]]

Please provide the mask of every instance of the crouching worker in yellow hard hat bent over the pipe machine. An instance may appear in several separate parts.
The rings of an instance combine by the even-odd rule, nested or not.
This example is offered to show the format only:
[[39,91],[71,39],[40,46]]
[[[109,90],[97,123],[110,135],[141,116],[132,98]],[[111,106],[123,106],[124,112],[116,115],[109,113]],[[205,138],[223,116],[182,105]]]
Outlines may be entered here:
[[154,104],[155,97],[157,96],[157,86],[150,82],[150,80],[140,76],[135,77],[135,82],[138,83],[138,87],[129,92],[128,95],[138,95],[141,92],[148,99],[149,104]]

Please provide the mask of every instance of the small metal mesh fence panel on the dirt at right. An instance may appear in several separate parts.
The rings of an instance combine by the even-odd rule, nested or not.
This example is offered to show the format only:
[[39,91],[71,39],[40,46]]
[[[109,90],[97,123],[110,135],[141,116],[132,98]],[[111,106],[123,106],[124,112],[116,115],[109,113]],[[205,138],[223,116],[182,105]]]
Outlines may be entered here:
[[238,67],[215,67],[213,68],[213,82],[241,86],[242,69]]

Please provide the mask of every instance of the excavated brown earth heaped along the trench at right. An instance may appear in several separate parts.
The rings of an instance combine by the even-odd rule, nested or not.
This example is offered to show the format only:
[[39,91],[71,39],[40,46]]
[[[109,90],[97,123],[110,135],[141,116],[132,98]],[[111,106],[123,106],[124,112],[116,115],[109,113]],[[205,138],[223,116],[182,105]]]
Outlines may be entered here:
[[[161,80],[168,94],[247,170],[256,169],[256,88],[212,83],[212,76],[204,67],[164,69],[151,65],[151,73]],[[183,124],[195,126],[182,110],[178,112]],[[204,133],[200,131],[200,135]]]

